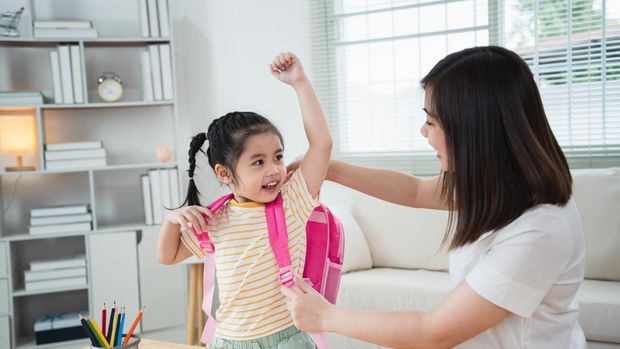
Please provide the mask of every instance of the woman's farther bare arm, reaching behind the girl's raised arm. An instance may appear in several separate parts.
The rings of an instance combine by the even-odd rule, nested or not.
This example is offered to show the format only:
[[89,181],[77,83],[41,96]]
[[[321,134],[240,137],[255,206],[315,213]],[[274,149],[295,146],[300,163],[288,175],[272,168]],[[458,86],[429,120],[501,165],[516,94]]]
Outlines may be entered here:
[[448,208],[441,200],[441,176],[422,179],[398,171],[332,160],[327,179],[398,205],[440,210]]

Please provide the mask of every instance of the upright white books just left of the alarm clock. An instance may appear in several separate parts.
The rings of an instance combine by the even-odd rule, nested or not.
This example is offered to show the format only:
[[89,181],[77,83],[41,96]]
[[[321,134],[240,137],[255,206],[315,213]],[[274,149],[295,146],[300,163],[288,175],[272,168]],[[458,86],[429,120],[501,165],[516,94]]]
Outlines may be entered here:
[[58,45],[50,52],[54,103],[84,103],[82,64],[78,45]]

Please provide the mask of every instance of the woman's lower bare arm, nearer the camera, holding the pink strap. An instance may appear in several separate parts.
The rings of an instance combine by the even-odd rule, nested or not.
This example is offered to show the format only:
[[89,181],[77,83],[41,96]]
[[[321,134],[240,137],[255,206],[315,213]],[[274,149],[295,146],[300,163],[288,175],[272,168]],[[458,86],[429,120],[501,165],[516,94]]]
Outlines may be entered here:
[[303,280],[282,287],[295,326],[308,332],[335,332],[390,348],[452,348],[499,324],[511,313],[461,282],[431,313],[378,312],[328,303]]

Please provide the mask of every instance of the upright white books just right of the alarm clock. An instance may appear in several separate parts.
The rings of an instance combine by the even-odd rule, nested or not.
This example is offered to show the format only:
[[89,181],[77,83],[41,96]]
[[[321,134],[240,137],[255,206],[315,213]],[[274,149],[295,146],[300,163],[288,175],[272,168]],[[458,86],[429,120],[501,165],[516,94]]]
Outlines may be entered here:
[[147,45],[142,52],[142,89],[145,101],[174,98],[170,45]]

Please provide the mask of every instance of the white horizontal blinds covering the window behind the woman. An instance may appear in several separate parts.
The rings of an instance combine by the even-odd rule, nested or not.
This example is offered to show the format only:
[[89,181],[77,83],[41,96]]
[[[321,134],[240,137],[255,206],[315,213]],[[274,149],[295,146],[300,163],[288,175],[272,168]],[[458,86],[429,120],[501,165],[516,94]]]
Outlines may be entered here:
[[311,2],[312,75],[335,155],[438,173],[435,152],[420,134],[425,117],[419,80],[448,53],[495,44],[530,64],[571,165],[620,164],[620,1],[611,3]]

